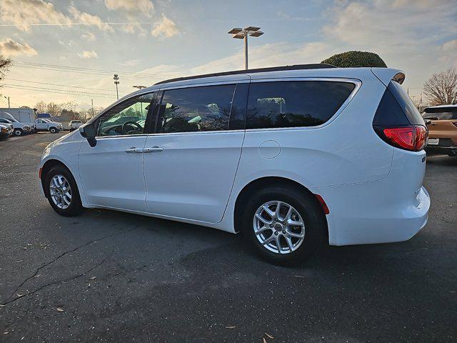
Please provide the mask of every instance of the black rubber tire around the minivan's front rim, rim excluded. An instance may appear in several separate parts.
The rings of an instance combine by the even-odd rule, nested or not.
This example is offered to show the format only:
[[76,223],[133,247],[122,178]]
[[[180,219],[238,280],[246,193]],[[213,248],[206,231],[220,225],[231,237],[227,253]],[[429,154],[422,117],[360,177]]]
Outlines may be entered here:
[[[51,199],[50,194],[50,185],[51,180],[56,175],[62,175],[65,179],[69,182],[71,187],[71,202],[69,207],[65,209],[61,209],[58,207],[54,201]],[[56,211],[58,214],[64,217],[73,217],[81,214],[84,210],[81,204],[81,197],[79,197],[79,190],[76,182],[74,181],[73,175],[69,172],[69,169],[66,169],[64,166],[53,166],[49,172],[44,175],[44,194],[46,194],[46,198],[48,198],[49,204],[51,207]]]

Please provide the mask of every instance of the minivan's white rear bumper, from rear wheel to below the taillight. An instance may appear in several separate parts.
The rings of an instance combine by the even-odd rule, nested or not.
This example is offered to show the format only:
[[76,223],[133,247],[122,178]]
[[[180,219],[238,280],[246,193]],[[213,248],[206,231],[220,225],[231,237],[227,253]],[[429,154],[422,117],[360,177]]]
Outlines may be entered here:
[[384,179],[311,189],[330,210],[328,243],[401,242],[417,234],[426,225],[430,209],[430,196],[421,186],[425,156],[424,151],[398,150]]

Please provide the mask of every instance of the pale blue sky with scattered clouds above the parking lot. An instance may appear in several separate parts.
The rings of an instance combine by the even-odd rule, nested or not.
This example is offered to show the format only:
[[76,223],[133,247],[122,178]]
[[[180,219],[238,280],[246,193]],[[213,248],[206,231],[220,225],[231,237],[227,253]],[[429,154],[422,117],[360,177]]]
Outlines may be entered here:
[[[0,0],[0,54],[14,59],[0,93],[11,106],[76,101],[87,108],[135,85],[243,68],[226,32],[261,26],[250,66],[318,63],[343,51],[378,53],[419,96],[431,74],[457,67],[455,0]],[[5,106],[3,96],[0,106]]]

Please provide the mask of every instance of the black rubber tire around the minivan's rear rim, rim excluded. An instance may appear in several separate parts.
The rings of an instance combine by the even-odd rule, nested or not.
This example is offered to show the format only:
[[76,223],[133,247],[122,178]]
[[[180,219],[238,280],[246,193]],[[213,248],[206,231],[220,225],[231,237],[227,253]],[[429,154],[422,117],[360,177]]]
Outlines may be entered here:
[[[257,209],[262,204],[272,201],[285,202],[291,205],[303,219],[305,227],[304,241],[293,252],[288,252],[287,254],[271,252],[258,241],[254,233],[253,221]],[[243,212],[238,222],[241,233],[246,237],[245,239],[251,244],[251,247],[267,262],[289,266],[300,264],[312,257],[313,254],[316,254],[318,249],[326,242],[327,222],[323,209],[313,194],[303,191],[303,189],[281,184],[264,187],[251,195],[245,204],[240,205],[243,207]],[[273,229],[271,232],[273,234]]]

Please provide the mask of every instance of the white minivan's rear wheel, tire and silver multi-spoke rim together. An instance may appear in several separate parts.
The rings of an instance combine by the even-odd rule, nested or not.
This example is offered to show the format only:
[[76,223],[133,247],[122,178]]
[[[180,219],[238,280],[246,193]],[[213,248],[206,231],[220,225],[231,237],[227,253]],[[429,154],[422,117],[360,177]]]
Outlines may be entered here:
[[262,259],[296,265],[316,254],[327,223],[313,194],[288,186],[259,189],[243,206],[241,232]]

